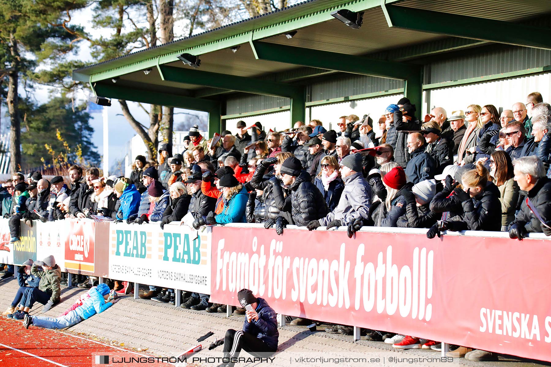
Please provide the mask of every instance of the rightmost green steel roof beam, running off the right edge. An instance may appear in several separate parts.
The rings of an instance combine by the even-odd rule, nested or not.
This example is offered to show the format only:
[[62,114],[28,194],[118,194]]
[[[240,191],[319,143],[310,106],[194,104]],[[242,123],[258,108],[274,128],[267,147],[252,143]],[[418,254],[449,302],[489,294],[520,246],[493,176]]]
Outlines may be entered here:
[[390,27],[551,50],[550,29],[510,21],[381,5]]

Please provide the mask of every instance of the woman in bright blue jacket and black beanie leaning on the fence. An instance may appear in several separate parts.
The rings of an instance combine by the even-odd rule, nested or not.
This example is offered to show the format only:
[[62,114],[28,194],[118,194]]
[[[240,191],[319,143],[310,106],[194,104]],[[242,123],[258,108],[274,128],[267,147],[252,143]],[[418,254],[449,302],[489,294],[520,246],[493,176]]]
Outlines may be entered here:
[[249,193],[247,189],[237,181],[231,173],[225,174],[218,181],[222,188],[222,197],[224,200],[224,209],[222,213],[215,215],[210,212],[205,220],[208,225],[227,224],[227,223],[247,223],[245,209]]

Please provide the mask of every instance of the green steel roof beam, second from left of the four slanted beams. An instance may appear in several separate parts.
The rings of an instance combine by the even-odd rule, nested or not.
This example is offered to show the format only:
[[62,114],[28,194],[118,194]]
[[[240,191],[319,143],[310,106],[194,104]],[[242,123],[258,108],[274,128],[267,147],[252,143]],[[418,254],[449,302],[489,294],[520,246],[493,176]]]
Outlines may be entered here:
[[203,72],[189,68],[158,65],[161,78],[175,83],[204,85],[240,92],[292,98],[304,94],[304,88],[276,81],[259,80],[229,74]]

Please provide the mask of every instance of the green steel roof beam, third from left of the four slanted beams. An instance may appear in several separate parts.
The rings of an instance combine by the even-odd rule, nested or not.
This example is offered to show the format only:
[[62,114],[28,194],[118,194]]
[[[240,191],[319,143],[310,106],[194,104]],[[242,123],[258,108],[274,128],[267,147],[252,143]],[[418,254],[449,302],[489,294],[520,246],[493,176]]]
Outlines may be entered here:
[[257,59],[339,72],[382,76],[391,79],[408,79],[419,73],[419,65],[382,61],[337,52],[277,45],[276,43],[251,41]]

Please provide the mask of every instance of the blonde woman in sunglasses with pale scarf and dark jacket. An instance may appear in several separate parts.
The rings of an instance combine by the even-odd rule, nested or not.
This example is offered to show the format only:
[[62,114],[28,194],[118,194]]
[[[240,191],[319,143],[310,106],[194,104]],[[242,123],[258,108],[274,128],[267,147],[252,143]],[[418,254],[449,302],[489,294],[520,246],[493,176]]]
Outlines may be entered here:
[[320,166],[321,171],[314,184],[323,194],[329,211],[333,211],[339,204],[344,190],[344,182],[339,174],[339,164],[334,156],[325,156],[321,158]]

